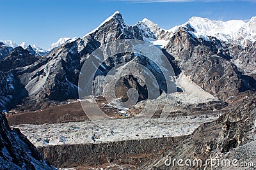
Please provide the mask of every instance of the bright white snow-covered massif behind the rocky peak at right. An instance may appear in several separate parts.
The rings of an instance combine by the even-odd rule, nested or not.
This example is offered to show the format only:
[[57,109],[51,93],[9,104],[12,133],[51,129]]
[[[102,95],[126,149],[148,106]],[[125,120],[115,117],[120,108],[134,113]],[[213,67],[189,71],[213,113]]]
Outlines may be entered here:
[[222,41],[245,45],[248,41],[256,40],[256,17],[248,22],[243,20],[209,20],[208,18],[192,17],[185,24],[175,26],[170,32],[175,32],[179,27],[191,27],[191,32],[196,37],[208,39],[215,36]]

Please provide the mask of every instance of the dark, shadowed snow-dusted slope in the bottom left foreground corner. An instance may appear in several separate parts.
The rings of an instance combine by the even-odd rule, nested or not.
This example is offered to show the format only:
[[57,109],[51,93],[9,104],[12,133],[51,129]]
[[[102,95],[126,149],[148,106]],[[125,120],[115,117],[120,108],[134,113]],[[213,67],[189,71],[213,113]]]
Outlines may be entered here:
[[11,129],[0,114],[0,169],[55,169],[19,131]]

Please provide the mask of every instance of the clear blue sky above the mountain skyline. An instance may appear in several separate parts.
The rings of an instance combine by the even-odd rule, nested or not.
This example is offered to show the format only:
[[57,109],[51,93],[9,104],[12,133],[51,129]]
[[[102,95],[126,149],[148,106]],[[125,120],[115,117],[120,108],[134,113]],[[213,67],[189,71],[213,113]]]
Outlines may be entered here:
[[256,15],[255,9],[255,1],[0,0],[0,39],[47,49],[61,37],[84,36],[116,10],[127,24],[148,18],[170,29],[193,16],[247,20]]

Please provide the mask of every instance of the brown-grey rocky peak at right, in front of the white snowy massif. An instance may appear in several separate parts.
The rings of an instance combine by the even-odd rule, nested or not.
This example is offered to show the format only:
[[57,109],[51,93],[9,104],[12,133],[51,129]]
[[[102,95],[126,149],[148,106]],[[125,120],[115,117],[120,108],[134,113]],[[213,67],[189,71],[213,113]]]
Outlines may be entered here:
[[170,39],[166,51],[192,81],[223,100],[239,92],[255,90],[255,80],[242,74],[232,63],[225,43],[209,38],[210,41],[196,38],[188,29],[180,28]]

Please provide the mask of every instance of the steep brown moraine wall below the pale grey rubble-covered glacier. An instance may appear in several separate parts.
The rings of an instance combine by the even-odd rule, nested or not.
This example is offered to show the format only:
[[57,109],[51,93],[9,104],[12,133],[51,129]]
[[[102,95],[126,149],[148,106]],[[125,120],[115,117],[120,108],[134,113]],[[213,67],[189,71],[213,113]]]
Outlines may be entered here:
[[[154,154],[163,153],[163,148],[168,148],[168,146],[177,143],[182,138],[184,137],[140,139],[84,145],[42,146],[38,148],[38,151],[56,167],[102,165],[106,163],[132,164],[137,167],[143,161],[151,160]],[[65,150],[65,153],[62,153],[63,150]]]

